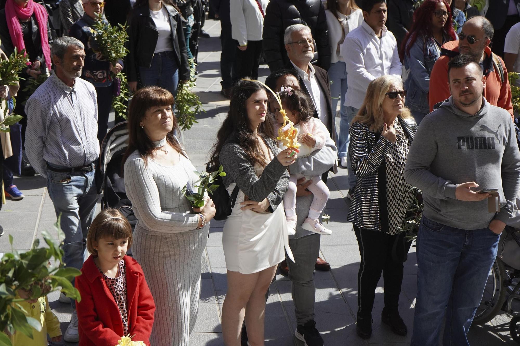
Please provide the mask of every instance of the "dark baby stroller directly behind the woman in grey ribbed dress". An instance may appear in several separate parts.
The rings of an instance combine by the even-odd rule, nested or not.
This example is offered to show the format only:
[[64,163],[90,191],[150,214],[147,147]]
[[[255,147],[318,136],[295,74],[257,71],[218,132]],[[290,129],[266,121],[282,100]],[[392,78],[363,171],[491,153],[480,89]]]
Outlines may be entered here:
[[[116,124],[108,131],[101,143],[99,154],[99,169],[102,181],[98,184],[98,193],[103,192],[101,208],[116,208],[132,225],[134,231],[137,218],[132,209],[132,202],[126,196],[125,181],[121,162],[128,147],[127,122]],[[130,250],[128,255],[131,255]]]

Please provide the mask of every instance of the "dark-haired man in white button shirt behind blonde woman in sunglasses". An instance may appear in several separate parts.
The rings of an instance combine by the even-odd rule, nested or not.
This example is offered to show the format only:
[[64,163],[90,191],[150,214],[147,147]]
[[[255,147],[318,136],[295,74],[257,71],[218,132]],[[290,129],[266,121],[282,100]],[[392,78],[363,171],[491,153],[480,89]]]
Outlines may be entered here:
[[[349,123],[365,100],[367,87],[373,79],[385,74],[401,78],[402,71],[396,39],[385,26],[386,1],[365,0],[361,9],[365,20],[361,26],[348,33],[340,46],[340,53],[345,59],[348,74],[345,105]],[[347,169],[350,198],[357,180],[350,166],[350,157],[348,157]]]

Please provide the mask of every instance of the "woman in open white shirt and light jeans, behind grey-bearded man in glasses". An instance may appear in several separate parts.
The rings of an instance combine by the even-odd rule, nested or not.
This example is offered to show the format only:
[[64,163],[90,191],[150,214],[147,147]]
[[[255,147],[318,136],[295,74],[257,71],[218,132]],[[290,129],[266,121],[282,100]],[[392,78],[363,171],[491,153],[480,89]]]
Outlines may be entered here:
[[354,0],[328,0],[327,25],[329,27],[330,55],[329,78],[331,81],[330,94],[332,97],[332,112],[335,116],[337,101],[340,103],[340,132],[336,136],[337,157],[343,167],[347,166],[348,128],[352,119],[347,119],[345,94],[347,93],[347,71],[345,60],[340,54],[340,45],[347,34],[356,29],[363,22],[363,12]]

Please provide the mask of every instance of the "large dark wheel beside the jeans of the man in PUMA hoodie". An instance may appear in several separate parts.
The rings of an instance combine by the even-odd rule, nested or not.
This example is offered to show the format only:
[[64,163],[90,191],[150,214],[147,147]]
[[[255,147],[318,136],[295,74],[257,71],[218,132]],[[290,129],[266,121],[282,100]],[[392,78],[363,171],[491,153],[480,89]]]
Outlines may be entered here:
[[484,295],[473,318],[473,323],[485,324],[498,315],[507,295],[507,287],[504,287],[505,278],[504,263],[497,258],[489,271]]

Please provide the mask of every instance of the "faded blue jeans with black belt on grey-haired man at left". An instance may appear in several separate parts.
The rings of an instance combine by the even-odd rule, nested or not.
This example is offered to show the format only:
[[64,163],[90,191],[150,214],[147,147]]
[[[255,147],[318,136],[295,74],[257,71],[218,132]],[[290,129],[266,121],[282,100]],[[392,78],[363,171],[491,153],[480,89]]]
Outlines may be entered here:
[[[63,262],[66,267],[83,267],[84,239],[94,220],[99,195],[94,171],[61,173],[47,168],[47,190],[53,201],[56,217],[65,233]],[[74,282],[73,282],[74,283]],[[72,307],[75,301],[71,299]]]

